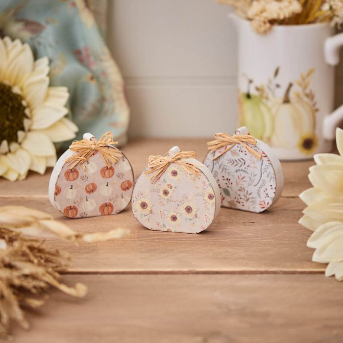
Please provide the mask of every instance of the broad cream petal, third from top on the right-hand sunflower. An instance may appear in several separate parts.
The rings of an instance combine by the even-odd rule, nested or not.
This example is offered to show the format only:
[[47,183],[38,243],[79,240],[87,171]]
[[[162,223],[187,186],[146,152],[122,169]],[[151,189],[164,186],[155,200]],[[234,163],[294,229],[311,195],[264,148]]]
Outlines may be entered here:
[[310,168],[309,180],[316,188],[333,196],[343,195],[343,168],[339,165],[321,165]]

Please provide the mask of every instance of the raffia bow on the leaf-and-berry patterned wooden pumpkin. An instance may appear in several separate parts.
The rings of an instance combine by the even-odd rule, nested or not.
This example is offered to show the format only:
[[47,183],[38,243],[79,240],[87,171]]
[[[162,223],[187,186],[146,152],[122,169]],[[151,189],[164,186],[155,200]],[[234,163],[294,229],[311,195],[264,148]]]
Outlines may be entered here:
[[211,142],[207,142],[208,150],[211,152],[215,152],[221,147],[227,146],[223,151],[221,151],[218,155],[214,156],[212,160],[217,159],[218,157],[221,157],[225,152],[231,150],[236,144],[241,145],[245,148],[246,151],[251,153],[251,155],[255,156],[259,160],[262,158],[262,155],[249,146],[249,144],[256,146],[257,142],[256,139],[249,134],[247,135],[236,135],[234,133],[233,136],[230,136],[226,133],[215,133],[215,140]]

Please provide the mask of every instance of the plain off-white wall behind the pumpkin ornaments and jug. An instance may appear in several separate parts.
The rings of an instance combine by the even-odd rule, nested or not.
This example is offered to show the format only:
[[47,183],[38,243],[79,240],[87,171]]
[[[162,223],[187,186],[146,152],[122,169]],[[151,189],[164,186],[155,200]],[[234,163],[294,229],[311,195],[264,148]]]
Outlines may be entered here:
[[[209,137],[237,126],[236,32],[213,0],[110,0],[108,42],[131,137]],[[337,103],[343,101],[343,64]]]

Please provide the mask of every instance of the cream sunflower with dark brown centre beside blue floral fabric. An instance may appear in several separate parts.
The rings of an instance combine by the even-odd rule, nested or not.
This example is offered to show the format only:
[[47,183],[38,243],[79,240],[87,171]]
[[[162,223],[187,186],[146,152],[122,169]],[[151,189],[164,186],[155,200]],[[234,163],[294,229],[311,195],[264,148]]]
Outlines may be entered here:
[[0,176],[15,181],[56,163],[53,142],[75,137],[64,118],[69,93],[49,87],[49,60],[36,61],[27,44],[0,39]]

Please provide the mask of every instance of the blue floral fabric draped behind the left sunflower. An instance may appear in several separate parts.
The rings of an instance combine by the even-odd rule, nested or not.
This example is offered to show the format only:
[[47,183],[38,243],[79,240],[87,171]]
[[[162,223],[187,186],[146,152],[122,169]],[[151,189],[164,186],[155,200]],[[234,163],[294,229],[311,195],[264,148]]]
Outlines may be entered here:
[[121,144],[126,142],[129,109],[123,78],[89,1],[1,0],[0,35],[27,42],[35,58],[49,57],[50,85],[69,89],[69,117],[79,127],[76,139],[84,132],[101,137],[110,130]]

